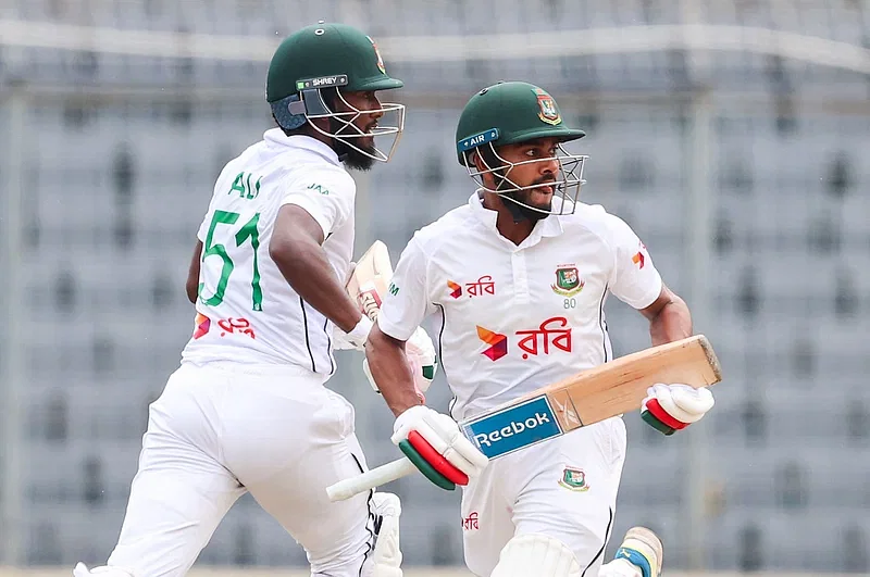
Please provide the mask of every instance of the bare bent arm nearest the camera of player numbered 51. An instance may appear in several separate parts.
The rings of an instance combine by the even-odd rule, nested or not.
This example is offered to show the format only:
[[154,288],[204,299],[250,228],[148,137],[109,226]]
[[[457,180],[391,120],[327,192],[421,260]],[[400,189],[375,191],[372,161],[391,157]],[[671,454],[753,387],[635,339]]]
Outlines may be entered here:
[[335,325],[349,333],[362,314],[335,278],[323,248],[313,239],[285,236],[273,239],[270,255],[290,287],[308,304],[321,312]]

